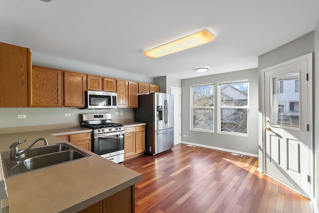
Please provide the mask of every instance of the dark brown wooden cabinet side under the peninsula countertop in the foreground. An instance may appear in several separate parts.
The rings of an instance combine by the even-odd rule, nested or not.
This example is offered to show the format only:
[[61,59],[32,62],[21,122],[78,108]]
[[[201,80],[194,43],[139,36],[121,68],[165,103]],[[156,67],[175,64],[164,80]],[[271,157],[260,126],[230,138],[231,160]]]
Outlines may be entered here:
[[135,185],[81,210],[79,213],[135,213]]

